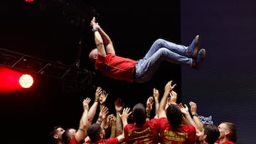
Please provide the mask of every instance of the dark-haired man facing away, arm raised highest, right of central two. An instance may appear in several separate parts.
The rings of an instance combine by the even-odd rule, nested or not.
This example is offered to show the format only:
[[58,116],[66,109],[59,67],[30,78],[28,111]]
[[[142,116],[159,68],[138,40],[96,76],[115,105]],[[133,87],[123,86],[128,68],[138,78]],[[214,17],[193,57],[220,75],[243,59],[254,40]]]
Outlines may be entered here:
[[[172,81],[169,81],[164,87],[164,96],[159,104],[161,144],[194,144],[196,142],[196,128],[182,123],[183,113],[181,108],[176,104],[171,104],[165,109],[168,96],[176,94],[173,91],[176,84],[171,84]],[[188,118],[187,115],[185,116],[186,118]]]

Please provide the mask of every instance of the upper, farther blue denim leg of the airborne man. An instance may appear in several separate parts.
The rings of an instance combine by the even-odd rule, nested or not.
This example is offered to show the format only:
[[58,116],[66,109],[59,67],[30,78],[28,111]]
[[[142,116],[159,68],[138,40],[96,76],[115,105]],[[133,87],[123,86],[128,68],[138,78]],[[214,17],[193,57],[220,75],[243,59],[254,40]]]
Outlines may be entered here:
[[148,59],[149,57],[151,57],[151,55],[154,55],[154,53],[159,50],[159,48],[167,48],[168,50],[176,52],[179,55],[189,57],[189,55],[187,54],[188,46],[177,45],[176,43],[171,43],[167,40],[159,38],[158,40],[154,41],[153,45],[151,45],[151,48],[146,53],[144,59]]

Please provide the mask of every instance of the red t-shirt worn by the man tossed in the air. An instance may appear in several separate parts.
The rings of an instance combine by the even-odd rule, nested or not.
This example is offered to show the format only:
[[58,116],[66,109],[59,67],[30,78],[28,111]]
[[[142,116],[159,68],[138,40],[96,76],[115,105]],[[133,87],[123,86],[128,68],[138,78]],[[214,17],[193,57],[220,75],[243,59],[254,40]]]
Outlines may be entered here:
[[107,53],[106,57],[97,56],[95,69],[100,70],[103,75],[112,79],[132,82],[132,70],[136,63],[135,60]]

